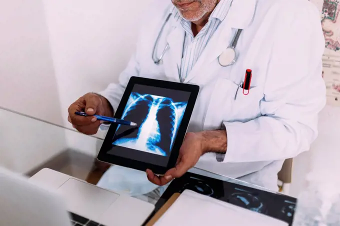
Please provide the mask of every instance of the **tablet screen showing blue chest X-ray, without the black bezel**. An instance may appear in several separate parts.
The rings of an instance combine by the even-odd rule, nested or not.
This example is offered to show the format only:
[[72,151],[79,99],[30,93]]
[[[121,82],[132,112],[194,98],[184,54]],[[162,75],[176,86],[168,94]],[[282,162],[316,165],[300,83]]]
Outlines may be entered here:
[[[134,84],[107,153],[166,166],[190,92]],[[124,150],[121,149],[124,147]]]

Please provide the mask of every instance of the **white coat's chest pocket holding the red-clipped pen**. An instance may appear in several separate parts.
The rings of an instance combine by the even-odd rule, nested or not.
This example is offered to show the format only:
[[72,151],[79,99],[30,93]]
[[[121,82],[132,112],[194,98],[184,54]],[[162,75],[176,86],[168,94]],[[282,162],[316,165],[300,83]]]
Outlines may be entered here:
[[244,90],[235,84],[233,99],[231,100],[230,111],[224,115],[223,120],[246,122],[261,115],[260,101],[263,98],[261,86],[250,87]]

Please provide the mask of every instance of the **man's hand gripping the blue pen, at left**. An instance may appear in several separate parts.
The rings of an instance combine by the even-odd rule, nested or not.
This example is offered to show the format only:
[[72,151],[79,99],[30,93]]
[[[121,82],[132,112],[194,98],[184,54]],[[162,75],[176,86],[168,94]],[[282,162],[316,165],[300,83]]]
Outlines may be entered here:
[[86,93],[68,107],[68,121],[79,132],[93,135],[97,133],[100,124],[104,123],[94,115],[112,117],[113,113],[112,106],[105,97],[96,93]]

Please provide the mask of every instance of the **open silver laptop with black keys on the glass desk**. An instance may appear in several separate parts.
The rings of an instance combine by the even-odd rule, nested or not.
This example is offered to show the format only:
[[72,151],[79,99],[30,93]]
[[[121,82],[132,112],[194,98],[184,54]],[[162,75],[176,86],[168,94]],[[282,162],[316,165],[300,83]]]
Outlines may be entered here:
[[30,178],[0,167],[0,225],[137,226],[154,205],[44,168]]

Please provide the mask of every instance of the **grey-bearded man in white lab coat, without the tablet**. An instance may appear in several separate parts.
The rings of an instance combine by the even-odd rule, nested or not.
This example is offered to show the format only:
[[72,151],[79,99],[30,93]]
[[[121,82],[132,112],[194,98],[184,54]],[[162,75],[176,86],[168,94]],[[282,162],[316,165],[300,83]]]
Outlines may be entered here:
[[[177,165],[164,176],[147,170],[148,180],[161,186],[196,166],[277,190],[284,159],[309,149],[325,104],[318,10],[308,0],[171,1],[148,7],[119,82],[81,96],[69,121],[96,133],[101,122],[74,111],[113,116],[131,76],[197,84]],[[222,53],[235,39],[237,59],[225,66]],[[244,92],[246,69],[252,79]]]

